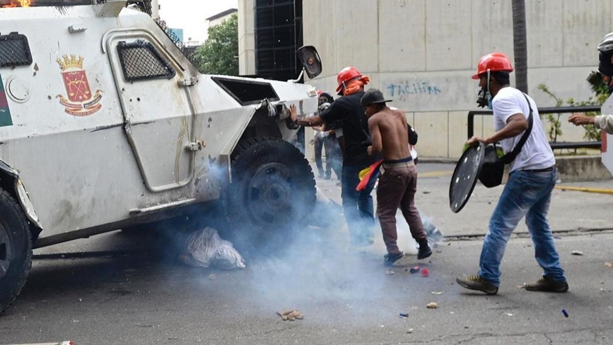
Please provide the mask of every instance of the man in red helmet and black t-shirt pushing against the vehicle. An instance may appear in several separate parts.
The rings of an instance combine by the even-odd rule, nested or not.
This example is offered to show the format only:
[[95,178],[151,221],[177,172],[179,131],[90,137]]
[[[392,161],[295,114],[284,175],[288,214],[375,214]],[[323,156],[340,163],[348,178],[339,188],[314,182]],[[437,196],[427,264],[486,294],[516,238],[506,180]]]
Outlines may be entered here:
[[[300,119],[298,123],[303,126],[319,126],[341,120],[345,141],[341,172],[343,211],[352,246],[370,246],[374,243],[375,225],[373,197],[370,193],[375,187],[375,179],[360,192],[356,190],[360,182],[359,172],[379,159],[367,153],[370,145],[368,119],[364,107],[360,105],[360,99],[364,96],[364,85],[370,82],[370,79],[362,76],[357,69],[347,67],[338,73],[337,82],[337,93],[343,97],[336,99],[319,115]],[[292,114],[292,117],[295,117],[295,114]]]

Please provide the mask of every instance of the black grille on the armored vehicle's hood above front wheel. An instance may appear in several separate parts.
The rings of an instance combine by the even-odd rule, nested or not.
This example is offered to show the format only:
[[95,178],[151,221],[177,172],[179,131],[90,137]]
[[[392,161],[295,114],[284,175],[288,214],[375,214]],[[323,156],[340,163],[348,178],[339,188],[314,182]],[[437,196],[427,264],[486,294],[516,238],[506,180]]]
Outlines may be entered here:
[[242,106],[257,104],[264,99],[279,100],[279,96],[270,83],[223,77],[212,77],[212,79]]

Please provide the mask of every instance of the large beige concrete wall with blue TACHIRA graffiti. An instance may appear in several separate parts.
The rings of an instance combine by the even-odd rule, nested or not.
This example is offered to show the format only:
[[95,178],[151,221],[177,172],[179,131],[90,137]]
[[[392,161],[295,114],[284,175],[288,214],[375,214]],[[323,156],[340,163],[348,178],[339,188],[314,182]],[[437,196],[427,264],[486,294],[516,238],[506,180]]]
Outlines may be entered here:
[[[240,0],[239,21],[246,2],[253,18],[253,0]],[[596,45],[613,31],[612,7],[613,0],[526,0],[528,83],[539,106],[555,105],[540,83],[563,99],[591,96],[585,77],[598,64]],[[476,109],[477,61],[493,51],[514,59],[509,0],[309,0],[303,18],[304,42],[323,60],[321,76],[307,82],[333,91],[340,69],[360,69],[405,110],[423,157],[459,157],[467,112]],[[476,122],[476,134],[493,133],[491,117]],[[565,123],[563,131],[562,140],[582,140],[581,128]]]

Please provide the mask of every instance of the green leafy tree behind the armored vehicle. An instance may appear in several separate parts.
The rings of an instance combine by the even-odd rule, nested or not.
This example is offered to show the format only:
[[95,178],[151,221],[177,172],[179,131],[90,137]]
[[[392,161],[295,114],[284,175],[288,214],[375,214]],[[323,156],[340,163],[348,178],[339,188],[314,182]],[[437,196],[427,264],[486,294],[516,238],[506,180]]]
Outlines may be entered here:
[[238,16],[208,28],[208,38],[196,49],[194,62],[201,73],[238,76]]

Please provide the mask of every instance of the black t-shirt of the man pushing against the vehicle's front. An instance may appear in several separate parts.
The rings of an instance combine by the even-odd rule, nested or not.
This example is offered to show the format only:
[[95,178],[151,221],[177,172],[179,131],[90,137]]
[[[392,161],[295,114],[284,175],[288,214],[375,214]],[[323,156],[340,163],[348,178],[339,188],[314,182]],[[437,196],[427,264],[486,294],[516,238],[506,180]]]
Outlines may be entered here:
[[343,164],[367,166],[380,157],[370,157],[367,153],[370,145],[370,131],[368,131],[368,118],[364,107],[360,106],[360,99],[364,91],[336,99],[332,105],[322,111],[319,116],[326,123],[343,122],[343,138],[345,140],[345,154]]

